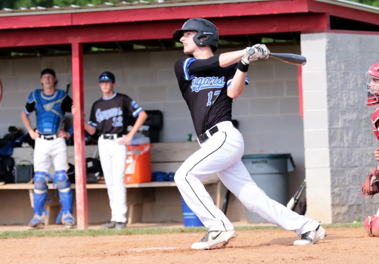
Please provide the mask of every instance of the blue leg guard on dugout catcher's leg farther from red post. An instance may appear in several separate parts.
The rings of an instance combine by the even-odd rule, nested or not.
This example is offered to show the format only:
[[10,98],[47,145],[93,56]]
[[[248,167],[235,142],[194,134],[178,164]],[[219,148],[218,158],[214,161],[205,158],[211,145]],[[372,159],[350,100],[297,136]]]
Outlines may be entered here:
[[44,212],[44,206],[47,200],[47,173],[36,171],[33,177],[34,181],[34,214],[41,216]]

